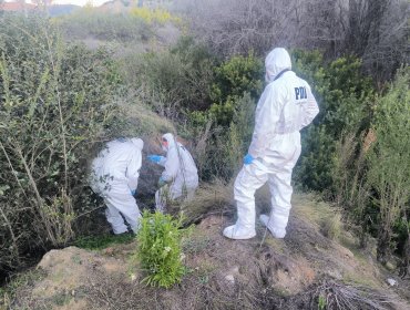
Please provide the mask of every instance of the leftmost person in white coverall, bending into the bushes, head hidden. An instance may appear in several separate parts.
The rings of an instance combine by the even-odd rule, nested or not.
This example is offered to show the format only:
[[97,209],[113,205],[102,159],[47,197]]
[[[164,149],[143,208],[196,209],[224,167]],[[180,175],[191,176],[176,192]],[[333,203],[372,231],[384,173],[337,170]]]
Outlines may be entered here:
[[106,220],[115,235],[127,231],[124,218],[134,232],[139,229],[141,214],[134,195],[143,146],[141,138],[111,141],[92,163],[91,187],[104,198]]

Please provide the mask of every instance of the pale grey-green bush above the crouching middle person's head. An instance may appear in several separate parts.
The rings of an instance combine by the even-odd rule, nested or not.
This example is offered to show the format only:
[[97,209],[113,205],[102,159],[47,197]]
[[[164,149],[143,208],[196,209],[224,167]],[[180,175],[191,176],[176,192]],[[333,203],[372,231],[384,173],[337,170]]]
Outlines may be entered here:
[[131,55],[123,62],[126,80],[142,101],[173,120],[209,105],[213,68],[214,59],[189,38],[170,50]]

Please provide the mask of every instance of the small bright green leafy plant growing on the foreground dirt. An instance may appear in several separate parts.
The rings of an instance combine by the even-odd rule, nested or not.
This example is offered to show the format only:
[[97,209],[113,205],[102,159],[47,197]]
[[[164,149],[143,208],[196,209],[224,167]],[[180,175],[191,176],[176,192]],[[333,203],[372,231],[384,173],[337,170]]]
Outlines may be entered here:
[[181,281],[184,275],[181,252],[184,230],[180,229],[182,220],[161,213],[144,213],[137,234],[136,254],[142,269],[147,273],[143,283],[170,288]]

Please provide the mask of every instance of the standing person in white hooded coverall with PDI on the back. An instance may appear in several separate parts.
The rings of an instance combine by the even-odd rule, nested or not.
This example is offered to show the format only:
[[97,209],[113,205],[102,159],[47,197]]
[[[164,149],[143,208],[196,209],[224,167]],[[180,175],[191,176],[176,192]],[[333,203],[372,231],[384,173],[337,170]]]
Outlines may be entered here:
[[319,113],[310,86],[291,71],[285,49],[274,49],[265,60],[265,69],[268,84],[257,104],[252,143],[235,180],[238,218],[223,232],[232,239],[256,236],[254,195],[266,182],[271,210],[259,219],[275,238],[285,237],[291,207],[291,170],[300,155],[299,131]]

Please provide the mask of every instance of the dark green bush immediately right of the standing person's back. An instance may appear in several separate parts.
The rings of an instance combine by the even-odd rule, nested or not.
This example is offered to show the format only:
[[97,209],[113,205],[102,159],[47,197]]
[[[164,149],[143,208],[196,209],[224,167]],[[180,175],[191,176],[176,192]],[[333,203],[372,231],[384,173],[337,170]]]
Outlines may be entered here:
[[326,63],[319,52],[296,50],[293,58],[294,70],[310,83],[320,108],[314,124],[301,132],[296,180],[305,188],[334,196],[337,143],[347,134],[359,137],[369,128],[375,91],[371,80],[361,74],[361,62],[353,56]]

